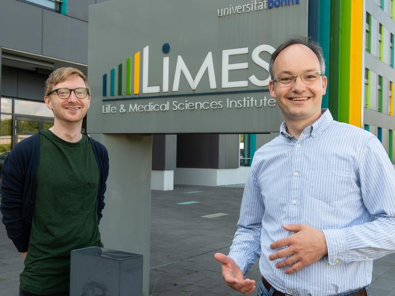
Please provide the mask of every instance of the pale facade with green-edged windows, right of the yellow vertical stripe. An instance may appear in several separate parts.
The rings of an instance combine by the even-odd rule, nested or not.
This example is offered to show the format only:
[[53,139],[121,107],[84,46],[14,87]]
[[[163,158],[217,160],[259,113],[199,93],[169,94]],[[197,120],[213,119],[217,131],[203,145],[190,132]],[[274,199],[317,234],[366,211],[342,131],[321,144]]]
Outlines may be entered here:
[[362,128],[376,135],[394,162],[395,1],[366,0]]

